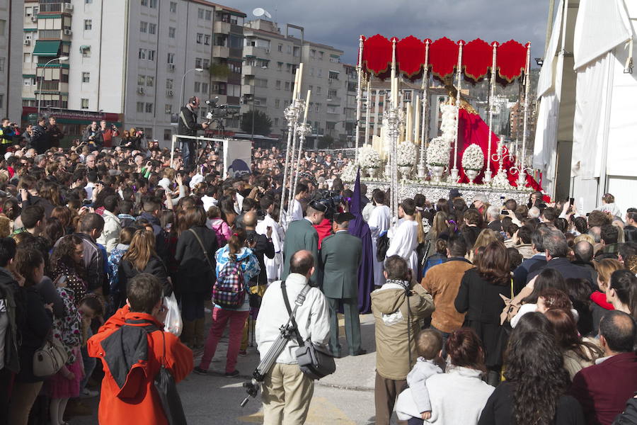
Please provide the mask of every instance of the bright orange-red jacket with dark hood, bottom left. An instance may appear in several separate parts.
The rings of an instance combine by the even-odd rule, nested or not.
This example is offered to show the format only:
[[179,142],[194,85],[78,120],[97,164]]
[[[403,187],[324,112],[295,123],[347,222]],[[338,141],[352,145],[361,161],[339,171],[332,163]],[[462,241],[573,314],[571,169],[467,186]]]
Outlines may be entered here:
[[[108,337],[120,329],[125,322],[127,327],[131,327],[130,334],[137,333],[137,336],[141,334],[139,327],[153,326],[163,329],[163,324],[157,322],[150,314],[130,312],[125,306],[117,310],[98,333],[88,340],[88,355],[101,358],[105,373],[102,380],[99,423],[119,425],[127,424],[132,420],[135,425],[168,425],[153,382],[155,375],[159,372],[160,359],[162,356],[166,358],[166,368],[171,371],[175,382],[179,382],[193,370],[193,351],[181,344],[173,334],[151,331],[145,335],[147,345],[143,340],[133,343],[138,346],[147,346],[147,358],[132,358],[132,360],[127,358],[126,360],[132,364],[128,367],[122,365],[126,361],[122,361],[123,356],[116,351],[117,341],[113,344],[113,340],[119,338],[108,339]],[[130,342],[128,341],[129,344]],[[137,351],[134,352],[137,353]],[[114,355],[117,361],[113,361]]]

